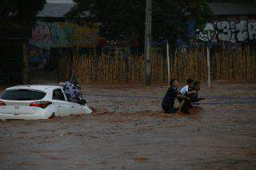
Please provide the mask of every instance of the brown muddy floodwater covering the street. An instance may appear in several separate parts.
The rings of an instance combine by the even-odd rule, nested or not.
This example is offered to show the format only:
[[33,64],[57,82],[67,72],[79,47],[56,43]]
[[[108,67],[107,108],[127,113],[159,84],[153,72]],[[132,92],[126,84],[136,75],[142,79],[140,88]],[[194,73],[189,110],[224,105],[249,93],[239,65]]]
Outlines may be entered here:
[[[85,88],[94,94],[160,97],[165,90]],[[255,94],[255,85],[216,84],[202,90],[204,97],[213,99],[188,116],[164,115],[160,99],[88,96],[97,110],[94,115],[0,122],[0,168],[251,169],[256,166]],[[251,99],[216,105],[228,97]]]

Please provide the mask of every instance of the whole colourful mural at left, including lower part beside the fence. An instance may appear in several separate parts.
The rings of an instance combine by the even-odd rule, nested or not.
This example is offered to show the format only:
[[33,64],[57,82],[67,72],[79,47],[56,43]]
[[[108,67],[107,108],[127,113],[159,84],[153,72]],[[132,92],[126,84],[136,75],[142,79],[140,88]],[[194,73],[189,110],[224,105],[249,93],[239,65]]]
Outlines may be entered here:
[[92,47],[99,39],[97,24],[88,27],[69,22],[38,22],[30,39],[30,67],[44,68],[50,59],[50,48]]

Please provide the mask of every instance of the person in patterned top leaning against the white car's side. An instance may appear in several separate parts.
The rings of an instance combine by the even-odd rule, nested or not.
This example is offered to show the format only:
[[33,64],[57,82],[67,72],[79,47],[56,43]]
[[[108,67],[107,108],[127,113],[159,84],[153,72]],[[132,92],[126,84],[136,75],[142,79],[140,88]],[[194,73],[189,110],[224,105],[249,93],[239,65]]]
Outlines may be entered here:
[[82,100],[82,87],[78,84],[77,77],[71,77],[70,81],[60,82],[59,85],[64,87],[68,101],[79,103]]

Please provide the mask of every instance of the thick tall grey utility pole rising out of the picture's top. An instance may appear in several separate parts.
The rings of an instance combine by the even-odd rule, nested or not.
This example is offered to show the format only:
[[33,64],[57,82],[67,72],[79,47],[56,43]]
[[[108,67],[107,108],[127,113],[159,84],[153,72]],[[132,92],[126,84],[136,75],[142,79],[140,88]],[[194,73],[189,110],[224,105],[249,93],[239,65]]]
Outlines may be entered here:
[[145,75],[144,83],[151,84],[150,44],[151,44],[152,0],[146,0],[146,26],[145,26]]

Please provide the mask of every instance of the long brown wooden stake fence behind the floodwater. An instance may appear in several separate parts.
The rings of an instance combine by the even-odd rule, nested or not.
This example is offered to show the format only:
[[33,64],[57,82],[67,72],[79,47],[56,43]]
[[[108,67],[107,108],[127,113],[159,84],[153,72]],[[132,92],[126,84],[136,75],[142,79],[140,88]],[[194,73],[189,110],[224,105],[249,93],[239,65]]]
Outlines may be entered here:
[[[256,53],[249,47],[230,52],[220,49],[211,53],[211,76],[214,80],[256,81]],[[59,80],[68,80],[71,75],[82,84],[142,83],[144,74],[143,56],[86,56],[74,53],[62,54],[58,64]],[[192,77],[206,81],[206,49],[190,50],[186,54],[176,51],[170,57],[170,76],[179,80]],[[153,83],[167,82],[165,53],[154,53],[151,57]]]

